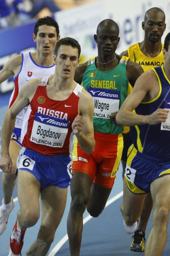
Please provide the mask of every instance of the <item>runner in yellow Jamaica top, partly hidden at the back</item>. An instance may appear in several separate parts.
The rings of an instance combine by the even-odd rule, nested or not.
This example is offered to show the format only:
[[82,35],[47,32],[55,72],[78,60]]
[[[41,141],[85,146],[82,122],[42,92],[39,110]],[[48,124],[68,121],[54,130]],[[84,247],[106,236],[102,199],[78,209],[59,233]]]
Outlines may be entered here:
[[[122,52],[121,55],[127,56],[131,61],[139,63],[144,72],[150,70],[151,67],[161,66],[161,64],[164,63],[162,51],[164,45],[161,43],[161,37],[165,31],[165,28],[166,24],[164,12],[157,7],[147,10],[144,16],[144,22],[142,22],[142,29],[144,29],[144,40],[141,43],[136,43],[130,46],[127,51]],[[132,144],[132,140],[130,138],[130,133],[123,134],[123,136],[124,148],[122,153],[122,166],[124,175],[127,161],[127,151]],[[138,230],[136,230],[133,236],[133,241],[130,244],[131,251],[144,252],[145,231],[152,206],[152,198],[150,193],[148,193],[144,201],[144,207],[140,216]],[[132,233],[133,232],[134,230],[132,230]]]

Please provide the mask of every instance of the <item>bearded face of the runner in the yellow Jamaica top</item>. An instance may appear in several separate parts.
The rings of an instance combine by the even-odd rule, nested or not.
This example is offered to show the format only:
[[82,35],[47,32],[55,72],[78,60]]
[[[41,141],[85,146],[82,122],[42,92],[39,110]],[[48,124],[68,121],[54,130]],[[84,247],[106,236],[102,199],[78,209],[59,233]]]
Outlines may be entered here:
[[162,12],[148,14],[142,22],[142,29],[144,29],[144,34],[151,43],[158,42],[166,29],[164,14]]

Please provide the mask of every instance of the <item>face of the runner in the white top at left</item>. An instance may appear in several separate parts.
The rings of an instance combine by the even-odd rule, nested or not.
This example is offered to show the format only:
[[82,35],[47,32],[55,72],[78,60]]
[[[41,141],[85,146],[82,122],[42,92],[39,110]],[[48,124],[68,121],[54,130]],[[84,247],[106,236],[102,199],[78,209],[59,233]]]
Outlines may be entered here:
[[39,26],[37,36],[33,34],[34,42],[37,42],[37,51],[43,55],[49,55],[54,51],[59,36],[57,38],[56,28],[54,26]]

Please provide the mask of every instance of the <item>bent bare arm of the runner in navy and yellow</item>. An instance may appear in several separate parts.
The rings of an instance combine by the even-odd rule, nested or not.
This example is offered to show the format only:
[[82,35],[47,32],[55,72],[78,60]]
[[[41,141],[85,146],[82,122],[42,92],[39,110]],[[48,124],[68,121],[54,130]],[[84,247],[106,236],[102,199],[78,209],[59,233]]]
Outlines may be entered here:
[[[122,107],[116,115],[116,123],[118,125],[155,125],[160,122],[165,122],[168,111],[158,109],[150,115],[138,115],[132,111],[143,101],[147,101],[148,94],[152,95],[158,81],[156,75],[152,72],[143,73],[136,81],[133,91],[125,99]],[[150,99],[151,100],[151,99]]]

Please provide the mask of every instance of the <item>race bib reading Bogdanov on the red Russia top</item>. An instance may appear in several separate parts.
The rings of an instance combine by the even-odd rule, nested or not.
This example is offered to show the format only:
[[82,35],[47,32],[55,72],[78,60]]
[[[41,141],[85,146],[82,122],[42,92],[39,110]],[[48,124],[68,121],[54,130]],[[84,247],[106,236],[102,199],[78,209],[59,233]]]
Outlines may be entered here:
[[30,140],[36,144],[62,148],[70,121],[36,113]]

